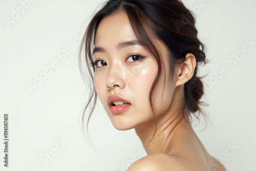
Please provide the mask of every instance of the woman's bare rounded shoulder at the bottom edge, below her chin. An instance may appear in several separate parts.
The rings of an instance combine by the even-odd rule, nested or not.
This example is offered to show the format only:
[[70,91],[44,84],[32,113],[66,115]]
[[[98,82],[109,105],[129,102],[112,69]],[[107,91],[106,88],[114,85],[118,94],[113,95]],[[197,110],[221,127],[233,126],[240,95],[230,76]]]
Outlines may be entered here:
[[[193,166],[192,166],[193,167]],[[189,163],[167,154],[154,154],[134,162],[127,171],[191,170]]]

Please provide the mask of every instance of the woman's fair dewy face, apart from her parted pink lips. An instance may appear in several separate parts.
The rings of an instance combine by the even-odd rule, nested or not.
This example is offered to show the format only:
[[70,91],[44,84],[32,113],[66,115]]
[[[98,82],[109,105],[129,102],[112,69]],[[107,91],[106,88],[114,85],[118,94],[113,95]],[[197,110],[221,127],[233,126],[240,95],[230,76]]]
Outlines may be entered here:
[[[148,100],[158,71],[157,61],[141,45],[119,44],[131,40],[137,38],[129,18],[123,11],[104,17],[95,37],[97,50],[93,57],[94,61],[99,61],[94,73],[94,86],[104,110],[118,130],[130,130],[154,118]],[[165,89],[163,90],[164,73],[162,73],[153,94],[153,105],[156,106],[159,116],[170,110],[175,86],[169,78],[167,50],[160,41],[156,40],[156,42],[162,50],[160,54],[165,67],[165,71],[162,69],[162,72],[166,74]],[[113,113],[108,104],[110,95],[118,95],[131,105],[125,111]]]

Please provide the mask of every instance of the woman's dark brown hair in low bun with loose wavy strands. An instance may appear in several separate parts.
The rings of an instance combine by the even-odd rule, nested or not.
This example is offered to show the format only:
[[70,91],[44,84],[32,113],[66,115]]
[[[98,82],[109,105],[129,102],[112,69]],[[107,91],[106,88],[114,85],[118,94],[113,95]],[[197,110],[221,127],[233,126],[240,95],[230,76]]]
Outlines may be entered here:
[[[90,79],[93,80],[92,72],[95,71],[95,68],[93,68],[92,71],[90,67],[90,63],[93,62],[92,47],[95,43],[95,34],[101,19],[121,10],[125,11],[129,17],[133,31],[140,44],[148,52],[151,52],[157,60],[158,73],[152,84],[149,95],[150,106],[156,121],[152,95],[160,78],[163,64],[162,58],[154,44],[154,39],[162,41],[168,50],[169,67],[171,71],[170,78],[175,74],[175,65],[183,63],[186,54],[189,52],[195,55],[197,66],[199,63],[204,63],[205,65],[207,62],[204,52],[205,46],[197,37],[198,31],[195,27],[196,21],[194,14],[179,0],[110,0],[93,16],[82,38],[79,51],[79,68],[85,80],[86,74],[89,74]],[[85,55],[85,57],[82,55]],[[82,65],[84,59],[88,73],[84,72]],[[203,113],[199,106],[199,104],[203,104],[203,102],[199,101],[204,93],[203,83],[200,77],[197,77],[197,66],[193,77],[184,84],[185,103],[182,108],[183,112],[184,109],[187,108],[189,116],[190,114],[195,115],[196,112]],[[89,108],[89,104],[93,102],[88,116],[87,132],[89,119],[94,111],[96,100],[96,91],[94,88],[91,88],[90,97],[82,115],[83,125],[86,110]]]

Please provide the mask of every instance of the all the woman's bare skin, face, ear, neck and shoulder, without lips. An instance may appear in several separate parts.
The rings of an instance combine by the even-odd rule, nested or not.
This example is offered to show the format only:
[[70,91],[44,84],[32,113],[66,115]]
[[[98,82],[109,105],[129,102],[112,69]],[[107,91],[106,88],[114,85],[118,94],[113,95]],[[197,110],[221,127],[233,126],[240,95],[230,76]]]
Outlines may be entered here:
[[[184,83],[193,76],[196,67],[194,54],[186,55],[185,61],[176,66],[175,76],[170,79],[167,50],[157,39],[155,42],[164,67],[153,97],[153,103],[157,104],[156,135],[148,143],[155,129],[153,116],[148,113],[148,94],[158,69],[154,57],[142,46],[117,48],[119,42],[131,39],[136,37],[125,12],[106,16],[101,20],[95,37],[95,47],[103,48],[104,51],[93,54],[95,61],[100,60],[94,73],[95,90],[113,126],[118,130],[134,128],[148,154],[133,163],[128,170],[226,170],[204,148],[191,127],[188,111],[185,109],[183,114],[181,110],[180,104],[185,99]],[[131,55],[134,53],[146,57],[143,61],[133,61]],[[102,61],[107,65],[102,66]],[[136,73],[127,77],[131,71]],[[113,114],[106,99],[114,94],[129,101],[130,108],[120,114]]]

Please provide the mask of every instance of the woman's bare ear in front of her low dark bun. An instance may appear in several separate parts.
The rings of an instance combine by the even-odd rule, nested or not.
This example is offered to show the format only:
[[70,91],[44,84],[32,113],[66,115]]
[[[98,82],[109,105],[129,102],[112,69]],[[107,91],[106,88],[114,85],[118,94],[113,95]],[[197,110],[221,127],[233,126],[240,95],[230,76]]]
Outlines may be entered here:
[[177,66],[177,79],[175,87],[186,83],[193,75],[197,65],[196,57],[193,53],[187,53],[185,61]]

